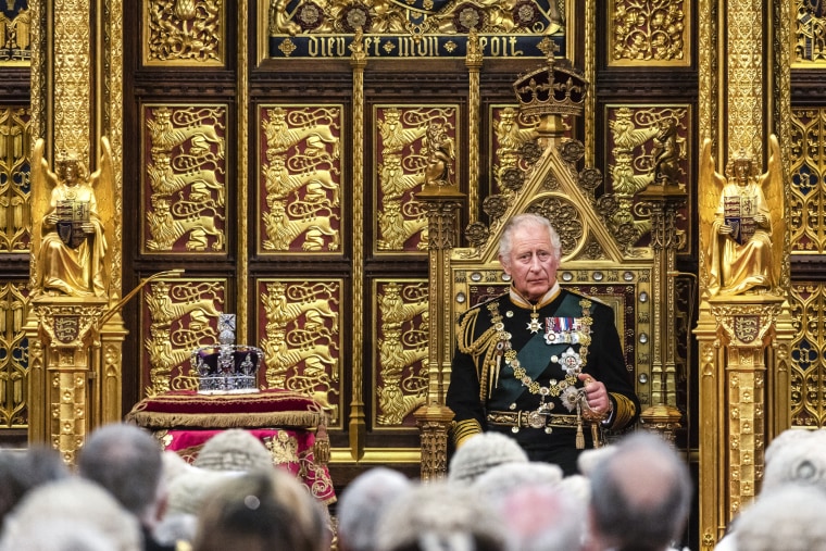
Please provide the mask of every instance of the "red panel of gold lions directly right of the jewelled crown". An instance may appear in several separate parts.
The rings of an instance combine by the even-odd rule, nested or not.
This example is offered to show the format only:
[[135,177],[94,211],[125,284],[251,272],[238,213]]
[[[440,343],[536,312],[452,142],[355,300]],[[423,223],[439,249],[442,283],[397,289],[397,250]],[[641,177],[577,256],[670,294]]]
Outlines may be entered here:
[[342,280],[262,278],[256,291],[266,387],[312,396],[341,428]]

